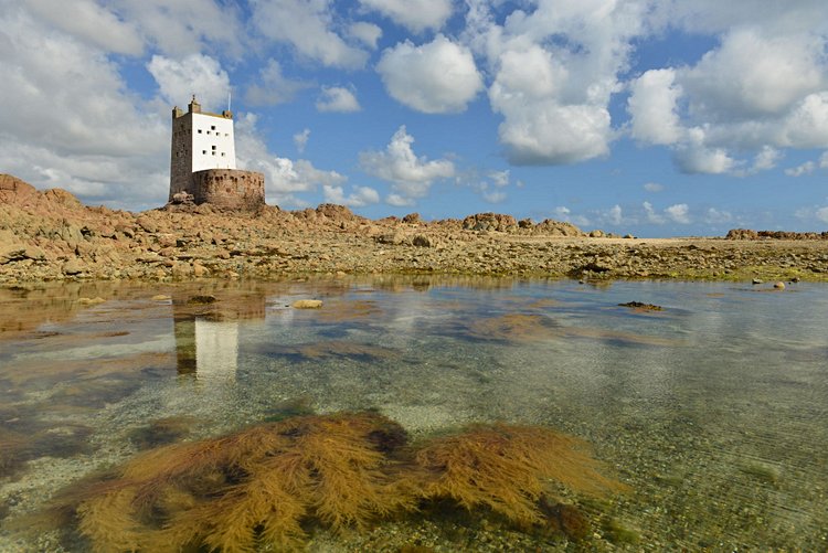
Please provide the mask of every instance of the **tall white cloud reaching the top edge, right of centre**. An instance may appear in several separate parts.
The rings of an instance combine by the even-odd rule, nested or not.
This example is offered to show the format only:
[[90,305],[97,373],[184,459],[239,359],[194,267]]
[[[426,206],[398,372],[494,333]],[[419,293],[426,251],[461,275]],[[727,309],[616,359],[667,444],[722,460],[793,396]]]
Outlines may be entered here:
[[644,4],[541,0],[502,25],[486,2],[469,4],[465,38],[491,66],[489,102],[503,116],[509,160],[558,164],[608,153],[609,99],[620,89],[628,40],[641,32]]

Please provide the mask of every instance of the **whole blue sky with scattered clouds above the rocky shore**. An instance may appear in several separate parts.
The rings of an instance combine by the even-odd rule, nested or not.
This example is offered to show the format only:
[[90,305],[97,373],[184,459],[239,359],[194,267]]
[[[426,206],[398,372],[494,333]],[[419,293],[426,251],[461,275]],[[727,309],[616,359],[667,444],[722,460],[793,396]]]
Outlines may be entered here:
[[0,172],[141,211],[172,106],[268,204],[828,230],[825,0],[0,0]]

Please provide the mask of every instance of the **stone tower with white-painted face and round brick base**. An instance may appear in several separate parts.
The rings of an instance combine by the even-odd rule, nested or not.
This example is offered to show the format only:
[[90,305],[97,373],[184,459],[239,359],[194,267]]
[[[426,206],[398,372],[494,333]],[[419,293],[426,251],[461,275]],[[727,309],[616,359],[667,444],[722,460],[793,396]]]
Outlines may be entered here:
[[172,108],[169,202],[233,210],[265,204],[264,174],[236,169],[231,111],[202,111],[195,96],[187,113]]

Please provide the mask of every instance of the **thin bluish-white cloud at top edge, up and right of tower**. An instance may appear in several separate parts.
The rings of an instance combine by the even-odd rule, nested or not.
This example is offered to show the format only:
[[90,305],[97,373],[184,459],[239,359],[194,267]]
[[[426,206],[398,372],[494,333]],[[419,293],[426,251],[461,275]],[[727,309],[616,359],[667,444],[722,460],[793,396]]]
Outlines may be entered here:
[[360,68],[368,52],[333,32],[331,0],[251,0],[252,21],[267,39],[285,42],[327,66]]

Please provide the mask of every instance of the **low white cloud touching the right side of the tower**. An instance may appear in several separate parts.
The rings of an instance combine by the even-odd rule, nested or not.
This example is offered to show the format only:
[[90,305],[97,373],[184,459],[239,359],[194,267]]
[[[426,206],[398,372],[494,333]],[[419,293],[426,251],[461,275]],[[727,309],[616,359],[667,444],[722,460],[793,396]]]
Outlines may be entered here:
[[307,202],[297,196],[297,193],[312,192],[320,185],[338,187],[348,180],[337,171],[317,169],[310,161],[293,161],[269,152],[256,129],[256,117],[253,114],[245,114],[236,120],[235,135],[236,164],[240,169],[265,174],[268,203],[306,206]]

